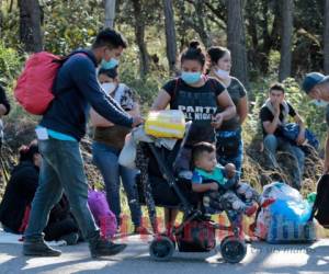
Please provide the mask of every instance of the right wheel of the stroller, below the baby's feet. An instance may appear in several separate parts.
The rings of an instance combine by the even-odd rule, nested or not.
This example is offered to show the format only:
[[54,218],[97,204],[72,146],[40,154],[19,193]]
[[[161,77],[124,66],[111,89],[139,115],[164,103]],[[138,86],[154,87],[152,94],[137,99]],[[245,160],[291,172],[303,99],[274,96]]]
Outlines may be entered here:
[[247,246],[245,241],[228,236],[220,243],[220,252],[223,259],[228,263],[239,263],[247,254]]

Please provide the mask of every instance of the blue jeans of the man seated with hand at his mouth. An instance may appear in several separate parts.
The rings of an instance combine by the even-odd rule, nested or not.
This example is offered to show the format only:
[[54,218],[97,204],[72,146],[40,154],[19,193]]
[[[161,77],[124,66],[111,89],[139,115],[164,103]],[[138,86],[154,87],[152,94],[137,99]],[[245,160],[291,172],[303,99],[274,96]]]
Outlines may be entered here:
[[305,155],[304,151],[297,146],[292,145],[288,140],[285,140],[282,137],[274,136],[272,134],[266,135],[264,138],[264,152],[266,157],[266,164],[273,168],[277,167],[276,161],[276,150],[281,150],[284,152],[291,153],[296,164],[296,168],[293,169],[293,178],[294,178],[294,187],[297,190],[302,186],[303,173],[304,173],[304,161]]

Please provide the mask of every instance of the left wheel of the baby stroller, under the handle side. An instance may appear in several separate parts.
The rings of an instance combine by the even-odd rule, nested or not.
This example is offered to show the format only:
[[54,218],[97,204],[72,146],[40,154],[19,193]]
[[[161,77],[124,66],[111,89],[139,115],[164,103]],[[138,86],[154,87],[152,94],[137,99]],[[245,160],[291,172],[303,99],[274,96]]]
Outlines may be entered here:
[[149,254],[156,261],[168,261],[173,253],[174,246],[168,237],[160,236],[149,246]]

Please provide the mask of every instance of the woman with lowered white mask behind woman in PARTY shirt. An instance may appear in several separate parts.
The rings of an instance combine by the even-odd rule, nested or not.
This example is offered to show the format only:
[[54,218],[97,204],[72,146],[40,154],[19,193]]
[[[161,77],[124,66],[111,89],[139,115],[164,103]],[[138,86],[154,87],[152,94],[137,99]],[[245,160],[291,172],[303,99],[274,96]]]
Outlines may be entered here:
[[207,50],[207,54],[209,57],[208,75],[226,87],[237,109],[236,115],[224,121],[220,128],[216,129],[217,160],[223,165],[234,163],[240,174],[243,160],[241,125],[248,115],[247,91],[237,78],[230,76],[231,58],[227,48],[214,46]]

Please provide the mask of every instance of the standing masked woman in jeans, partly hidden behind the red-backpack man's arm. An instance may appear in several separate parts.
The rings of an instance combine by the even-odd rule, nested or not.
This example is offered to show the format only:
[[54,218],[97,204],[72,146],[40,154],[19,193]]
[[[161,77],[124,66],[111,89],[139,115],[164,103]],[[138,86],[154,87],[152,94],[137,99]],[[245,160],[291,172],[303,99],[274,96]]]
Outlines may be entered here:
[[[117,67],[101,68],[99,81],[106,95],[112,96],[131,115],[139,114],[139,104],[135,92],[124,83],[120,83]],[[105,182],[106,199],[111,210],[116,216],[117,226],[121,226],[120,184],[123,183],[128,198],[135,233],[149,233],[141,226],[141,209],[135,187],[137,171],[118,164],[118,156],[124,146],[125,136],[129,128],[114,125],[99,115],[93,109],[90,112],[91,124],[94,127],[92,142],[92,158],[100,169]]]

